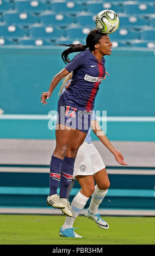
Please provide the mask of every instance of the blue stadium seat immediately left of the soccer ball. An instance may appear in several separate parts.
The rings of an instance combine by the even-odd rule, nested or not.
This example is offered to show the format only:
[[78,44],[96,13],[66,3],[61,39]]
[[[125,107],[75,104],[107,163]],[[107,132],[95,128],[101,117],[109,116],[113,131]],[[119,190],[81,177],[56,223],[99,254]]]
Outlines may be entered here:
[[96,15],[80,13],[76,16],[76,23],[79,26],[92,26],[95,22]]

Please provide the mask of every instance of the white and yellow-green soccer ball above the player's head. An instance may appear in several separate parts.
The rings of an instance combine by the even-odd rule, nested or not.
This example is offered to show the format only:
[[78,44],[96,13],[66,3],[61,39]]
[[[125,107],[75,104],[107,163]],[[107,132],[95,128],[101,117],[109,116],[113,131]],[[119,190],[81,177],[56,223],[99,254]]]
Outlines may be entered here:
[[104,34],[114,33],[119,27],[119,16],[113,10],[103,10],[96,16],[96,28]]

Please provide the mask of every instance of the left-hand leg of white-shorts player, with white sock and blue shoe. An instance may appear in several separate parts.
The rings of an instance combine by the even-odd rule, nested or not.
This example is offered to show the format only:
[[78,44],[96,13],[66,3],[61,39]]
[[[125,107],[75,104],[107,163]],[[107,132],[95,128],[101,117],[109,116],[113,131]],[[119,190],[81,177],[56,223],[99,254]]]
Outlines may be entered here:
[[82,237],[75,233],[73,228],[73,223],[75,222],[76,218],[83,210],[86,202],[90,198],[91,194],[94,192],[94,176],[76,176],[81,189],[73,198],[71,203],[72,208],[72,217],[66,217],[64,225],[61,227],[59,234],[60,236],[68,236],[68,237]]

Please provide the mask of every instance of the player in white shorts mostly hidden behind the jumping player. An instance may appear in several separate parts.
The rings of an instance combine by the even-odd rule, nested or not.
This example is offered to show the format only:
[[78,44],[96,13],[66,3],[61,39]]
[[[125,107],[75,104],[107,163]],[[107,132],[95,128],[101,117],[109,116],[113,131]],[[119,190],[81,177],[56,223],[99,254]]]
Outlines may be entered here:
[[[68,78],[71,78],[71,74]],[[104,77],[104,79],[105,78],[106,77]],[[65,80],[65,82],[65,87],[67,89],[70,86],[71,80]],[[61,87],[60,92],[63,92],[63,86]],[[93,112],[91,119],[91,129],[100,139],[100,141],[111,151],[111,153],[113,153],[116,161],[120,164],[127,165],[127,163],[123,160],[123,156],[120,151],[116,150],[110,143],[107,136],[104,135],[100,125],[98,124],[98,121],[96,120],[95,112]],[[91,202],[89,208],[85,211],[85,217],[95,221],[98,227],[102,229],[109,228],[108,223],[100,217],[100,213],[98,213],[98,207],[108,192],[110,182],[102,157],[98,153],[94,144],[91,143],[90,132],[91,130],[89,129],[83,144],[79,147],[73,171],[73,177],[74,179],[78,180],[81,189],[71,204],[71,211],[73,216],[66,217],[64,225],[60,228],[59,231],[60,236],[82,237],[74,231],[75,228],[73,228],[73,223],[75,222],[76,218],[80,214],[80,211],[82,211],[91,195]],[[94,180],[96,181],[96,186]]]

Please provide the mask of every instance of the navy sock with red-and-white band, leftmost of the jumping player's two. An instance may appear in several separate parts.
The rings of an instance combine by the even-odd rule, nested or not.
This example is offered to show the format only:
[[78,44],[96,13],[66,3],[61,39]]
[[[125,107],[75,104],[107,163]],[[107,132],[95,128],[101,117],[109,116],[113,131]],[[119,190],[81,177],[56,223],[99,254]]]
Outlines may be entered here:
[[63,159],[60,159],[52,155],[49,174],[49,196],[51,196],[52,194],[57,194],[57,189],[59,187],[61,176],[62,163]]

